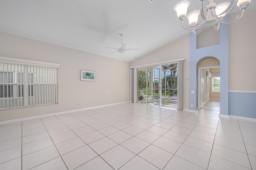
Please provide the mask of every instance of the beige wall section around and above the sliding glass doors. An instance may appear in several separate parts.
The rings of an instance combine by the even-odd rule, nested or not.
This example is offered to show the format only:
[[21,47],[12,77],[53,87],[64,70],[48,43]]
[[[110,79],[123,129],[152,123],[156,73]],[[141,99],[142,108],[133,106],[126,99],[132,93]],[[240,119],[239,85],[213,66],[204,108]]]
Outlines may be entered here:
[[[153,40],[152,40],[153,41]],[[170,61],[174,59],[186,58],[184,62],[185,74],[184,77],[189,77],[189,36],[181,38],[176,42],[170,43],[140,59],[133,61],[130,65],[145,65],[162,61]],[[189,80],[184,80],[184,109],[189,109]]]

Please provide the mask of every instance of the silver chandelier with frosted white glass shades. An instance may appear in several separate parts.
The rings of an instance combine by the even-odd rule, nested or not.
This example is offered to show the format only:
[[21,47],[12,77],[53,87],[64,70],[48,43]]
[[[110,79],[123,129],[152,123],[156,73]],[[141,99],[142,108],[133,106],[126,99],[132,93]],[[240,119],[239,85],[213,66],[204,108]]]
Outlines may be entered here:
[[[204,11],[204,0],[199,0],[202,2],[201,10],[194,10],[187,14],[190,2],[188,0],[183,0],[178,2],[174,6],[174,11],[177,12],[177,16],[181,21],[182,27],[187,30],[193,30],[194,34],[200,34],[204,27],[213,26],[215,31],[220,28],[220,22],[223,24],[232,24],[240,20],[244,14],[244,10],[247,8],[251,0],[232,0],[232,2],[223,2],[216,4],[213,0],[208,0],[209,4],[206,5]],[[235,6],[238,6],[242,13],[238,15],[234,20],[223,20],[224,16],[228,15]],[[198,16],[201,16],[202,20],[198,22]],[[184,24],[185,17],[188,19],[190,26]],[[198,22],[198,23],[197,23]]]

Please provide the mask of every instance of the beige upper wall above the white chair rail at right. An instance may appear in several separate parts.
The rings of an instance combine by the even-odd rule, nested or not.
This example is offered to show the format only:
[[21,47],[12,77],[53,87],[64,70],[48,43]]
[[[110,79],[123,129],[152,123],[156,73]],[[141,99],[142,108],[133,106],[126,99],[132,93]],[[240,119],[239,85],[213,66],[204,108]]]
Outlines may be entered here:
[[[230,19],[238,14],[231,14]],[[229,90],[256,91],[256,10],[229,26]]]

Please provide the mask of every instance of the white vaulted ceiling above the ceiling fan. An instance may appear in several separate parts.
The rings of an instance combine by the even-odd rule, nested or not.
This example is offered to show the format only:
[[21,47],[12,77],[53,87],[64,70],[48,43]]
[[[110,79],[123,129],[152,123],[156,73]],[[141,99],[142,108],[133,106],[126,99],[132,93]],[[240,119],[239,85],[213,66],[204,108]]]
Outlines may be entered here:
[[[130,62],[190,33],[173,10],[179,1],[0,0],[0,31]],[[193,0],[188,12],[200,6]],[[105,46],[120,47],[120,34],[126,48],[139,50],[111,53]]]

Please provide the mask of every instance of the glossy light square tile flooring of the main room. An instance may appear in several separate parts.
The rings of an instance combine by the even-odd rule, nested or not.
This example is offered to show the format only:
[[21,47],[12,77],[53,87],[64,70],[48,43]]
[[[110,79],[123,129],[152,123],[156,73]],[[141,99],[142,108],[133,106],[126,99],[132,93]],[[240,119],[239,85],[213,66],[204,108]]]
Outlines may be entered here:
[[0,169],[256,169],[256,122],[125,103],[9,123]]

